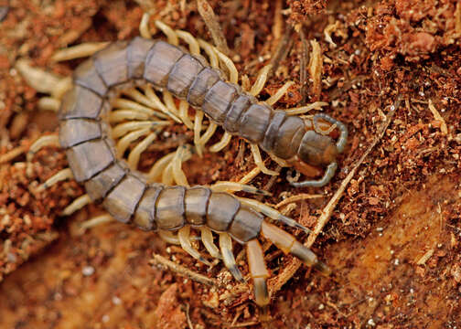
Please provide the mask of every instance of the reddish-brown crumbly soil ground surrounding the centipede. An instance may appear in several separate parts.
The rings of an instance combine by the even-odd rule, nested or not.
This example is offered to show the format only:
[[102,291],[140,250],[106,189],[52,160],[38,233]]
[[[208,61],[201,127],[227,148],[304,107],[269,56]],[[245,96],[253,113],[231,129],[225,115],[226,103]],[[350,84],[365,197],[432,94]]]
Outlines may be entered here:
[[[139,3],[145,10],[153,5],[153,19],[210,39],[195,2]],[[295,80],[277,107],[304,99],[327,101],[325,111],[348,125],[341,170],[330,184],[296,190],[282,175],[273,182],[273,197],[263,199],[276,204],[283,196],[324,194],[298,202],[291,213],[309,228],[316,226],[321,209],[379,134],[389,105],[402,97],[381,141],[360,165],[316,239],[314,250],[334,275],[296,271],[273,296],[270,325],[459,327],[461,5],[432,0],[209,3],[230,49],[239,55],[233,56],[237,68],[250,80],[276,53],[287,27],[294,26],[285,40],[289,51],[263,98],[284,81]],[[134,37],[141,7],[95,0],[12,0],[9,5],[0,23],[0,326],[265,326],[258,322],[250,287],[230,295],[228,288],[235,292],[239,287],[221,264],[207,271],[181,249],[167,248],[154,233],[123,224],[82,234],[79,223],[100,213],[97,206],[59,217],[83,193],[80,186],[67,182],[43,193],[35,187],[66,166],[61,150],[43,150],[28,170],[24,164],[28,145],[43,133],[55,132],[57,121],[54,113],[38,113],[42,95],[18,74],[16,60],[28,58],[38,68],[70,75],[80,60],[52,63],[49,58],[58,48]],[[312,39],[323,53],[321,89],[312,81],[302,88],[300,82],[304,48]],[[191,136],[183,126],[172,131],[186,139]],[[237,180],[253,163],[246,143],[235,140],[225,152],[205,154],[201,161],[195,157],[187,167],[191,182],[209,184]],[[253,184],[263,187],[269,180],[259,175]],[[224,287],[210,288],[153,267],[153,253],[218,278]],[[273,248],[266,260],[273,277],[292,264],[291,257]],[[241,269],[248,271],[244,258]]]

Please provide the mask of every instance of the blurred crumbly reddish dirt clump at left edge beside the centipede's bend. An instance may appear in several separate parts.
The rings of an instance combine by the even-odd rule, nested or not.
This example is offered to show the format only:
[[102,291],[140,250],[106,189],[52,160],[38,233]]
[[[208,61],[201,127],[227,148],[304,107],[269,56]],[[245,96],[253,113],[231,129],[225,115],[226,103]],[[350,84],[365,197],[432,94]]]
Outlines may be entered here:
[[[24,141],[27,143],[27,141]],[[21,146],[19,146],[21,147]],[[0,158],[5,156],[0,152]],[[21,156],[19,156],[21,157]],[[56,219],[81,188],[75,182],[38,191],[38,182],[67,165],[64,154],[48,149],[32,164],[0,164],[0,281],[59,236]],[[50,191],[49,191],[50,192]]]

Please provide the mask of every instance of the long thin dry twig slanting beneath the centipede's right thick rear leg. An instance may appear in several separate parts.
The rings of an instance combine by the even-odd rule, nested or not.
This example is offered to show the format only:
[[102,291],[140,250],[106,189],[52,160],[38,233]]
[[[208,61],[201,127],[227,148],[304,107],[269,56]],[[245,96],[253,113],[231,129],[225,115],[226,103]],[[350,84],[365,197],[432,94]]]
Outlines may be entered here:
[[[398,97],[394,105],[391,106],[391,111],[389,111],[388,115],[386,116],[386,121],[383,122],[383,124],[381,125],[380,133],[375,137],[375,139],[370,144],[368,149],[360,157],[359,161],[356,164],[354,164],[354,167],[352,168],[352,170],[349,172],[346,178],[344,178],[344,180],[341,182],[341,185],[339,186],[335,195],[331,197],[331,199],[329,200],[327,207],[323,209],[322,215],[320,216],[320,218],[318,218],[316,228],[314,228],[312,234],[309,236],[309,238],[307,239],[305,243],[306,247],[310,248],[314,244],[314,242],[316,241],[316,238],[318,237],[322,229],[325,227],[325,225],[327,225],[327,222],[329,218],[331,217],[333,210],[337,206],[339,199],[342,197],[344,191],[346,190],[348,183],[350,182],[352,177],[357,172],[357,169],[359,168],[360,164],[363,163],[365,158],[370,154],[371,150],[376,146],[377,143],[381,141],[382,136],[384,136],[384,133],[386,132],[386,129],[389,127],[389,124],[391,123],[391,119],[395,113],[395,110],[399,107],[400,102],[401,102],[401,97]],[[293,277],[293,275],[299,269],[301,264],[302,264],[301,260],[294,258],[284,268],[284,271],[282,271],[278,276],[270,280],[269,281],[270,294],[278,292],[284,286],[286,281],[290,280]]]

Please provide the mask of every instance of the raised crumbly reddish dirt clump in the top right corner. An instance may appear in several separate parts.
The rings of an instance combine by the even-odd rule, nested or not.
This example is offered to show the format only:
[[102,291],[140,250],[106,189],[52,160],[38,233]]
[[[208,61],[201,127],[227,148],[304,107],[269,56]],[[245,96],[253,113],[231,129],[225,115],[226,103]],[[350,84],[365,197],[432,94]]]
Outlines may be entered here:
[[370,51],[379,51],[381,66],[391,69],[398,54],[416,62],[455,44],[461,37],[461,5],[456,1],[383,1],[374,8],[366,30]]

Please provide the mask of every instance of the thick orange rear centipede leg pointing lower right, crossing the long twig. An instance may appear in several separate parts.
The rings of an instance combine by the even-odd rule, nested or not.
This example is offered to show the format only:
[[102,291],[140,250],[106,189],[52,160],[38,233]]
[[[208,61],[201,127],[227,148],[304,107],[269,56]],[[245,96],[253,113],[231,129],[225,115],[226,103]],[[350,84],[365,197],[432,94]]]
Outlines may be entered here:
[[285,232],[281,228],[277,228],[272,224],[263,222],[261,227],[263,237],[272,241],[278,249],[284,253],[291,253],[299,260],[302,260],[307,266],[314,267],[324,275],[329,275],[331,270],[327,265],[317,259],[316,254],[308,249],[305,245],[298,242],[295,237]]

